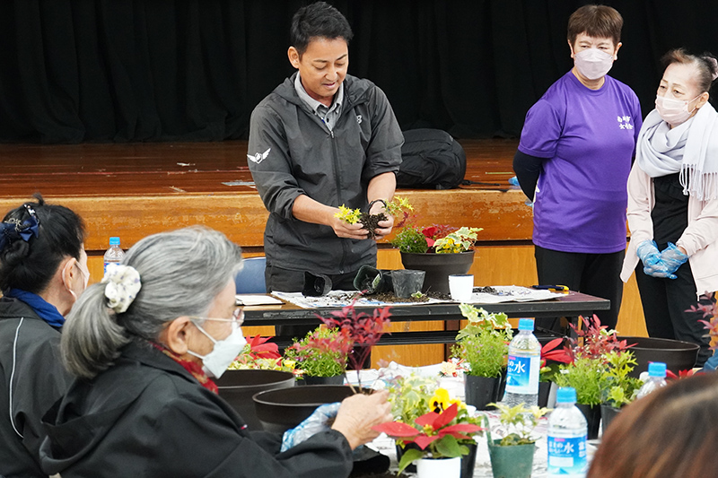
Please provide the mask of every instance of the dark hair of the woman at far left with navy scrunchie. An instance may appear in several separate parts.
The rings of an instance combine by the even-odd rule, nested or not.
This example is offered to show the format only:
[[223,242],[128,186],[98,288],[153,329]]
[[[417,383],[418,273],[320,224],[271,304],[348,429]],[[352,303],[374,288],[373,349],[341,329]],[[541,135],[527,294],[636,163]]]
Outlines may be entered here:
[[[8,240],[0,250],[0,290],[22,289],[39,293],[57,272],[67,257],[80,259],[84,242],[82,218],[56,204],[47,204],[39,194],[37,202],[28,202],[39,219],[38,236],[28,241]],[[22,204],[5,214],[3,222],[24,222],[30,219],[28,208]]]

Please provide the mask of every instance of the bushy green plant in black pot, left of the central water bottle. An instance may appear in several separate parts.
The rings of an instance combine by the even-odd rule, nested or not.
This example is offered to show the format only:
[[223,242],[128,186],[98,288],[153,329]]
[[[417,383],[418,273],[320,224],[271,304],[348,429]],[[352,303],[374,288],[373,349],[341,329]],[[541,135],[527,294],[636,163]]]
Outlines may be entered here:
[[469,304],[460,304],[461,315],[468,319],[456,335],[451,349],[464,367],[466,403],[486,410],[486,405],[501,399],[499,391],[512,339],[506,314],[489,314]]

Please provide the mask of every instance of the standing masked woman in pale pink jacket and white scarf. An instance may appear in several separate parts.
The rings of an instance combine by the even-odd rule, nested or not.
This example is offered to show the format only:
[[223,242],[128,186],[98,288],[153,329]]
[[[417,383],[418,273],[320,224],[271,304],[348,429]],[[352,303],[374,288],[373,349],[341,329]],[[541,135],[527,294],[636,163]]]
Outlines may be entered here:
[[718,62],[683,49],[663,61],[628,177],[631,242],[621,279],[635,269],[648,335],[699,344],[703,365],[711,352],[702,314],[688,309],[718,291],[718,113],[708,102]]

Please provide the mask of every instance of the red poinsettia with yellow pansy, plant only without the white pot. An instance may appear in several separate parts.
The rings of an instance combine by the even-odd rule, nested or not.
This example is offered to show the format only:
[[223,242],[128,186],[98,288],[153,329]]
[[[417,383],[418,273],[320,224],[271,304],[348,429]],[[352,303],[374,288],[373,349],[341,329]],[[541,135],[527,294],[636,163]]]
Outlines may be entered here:
[[417,417],[414,424],[396,421],[373,427],[395,439],[402,448],[407,443],[416,443],[418,449],[407,448],[402,454],[398,462],[399,473],[419,458],[468,455],[467,445],[476,443],[474,436],[484,430],[477,424],[480,418],[471,417],[466,404],[450,400],[449,393],[442,388],[437,389],[431,407],[433,410]]

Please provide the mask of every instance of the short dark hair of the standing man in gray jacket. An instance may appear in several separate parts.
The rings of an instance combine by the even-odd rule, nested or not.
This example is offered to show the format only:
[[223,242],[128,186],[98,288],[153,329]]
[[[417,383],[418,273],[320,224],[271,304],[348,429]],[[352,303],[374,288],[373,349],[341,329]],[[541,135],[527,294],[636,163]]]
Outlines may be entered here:
[[349,22],[336,8],[327,2],[302,6],[292,19],[289,38],[292,46],[302,56],[311,39],[344,39],[346,44],[354,37]]

